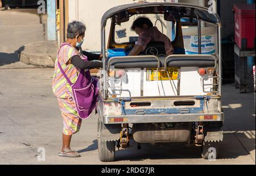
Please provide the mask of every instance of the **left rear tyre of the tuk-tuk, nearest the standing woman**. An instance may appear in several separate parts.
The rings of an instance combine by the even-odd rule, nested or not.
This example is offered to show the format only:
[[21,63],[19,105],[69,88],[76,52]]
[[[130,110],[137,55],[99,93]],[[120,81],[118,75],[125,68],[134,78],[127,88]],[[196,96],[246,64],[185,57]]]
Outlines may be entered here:
[[105,141],[101,139],[101,123],[98,120],[98,156],[102,162],[115,160],[115,141]]

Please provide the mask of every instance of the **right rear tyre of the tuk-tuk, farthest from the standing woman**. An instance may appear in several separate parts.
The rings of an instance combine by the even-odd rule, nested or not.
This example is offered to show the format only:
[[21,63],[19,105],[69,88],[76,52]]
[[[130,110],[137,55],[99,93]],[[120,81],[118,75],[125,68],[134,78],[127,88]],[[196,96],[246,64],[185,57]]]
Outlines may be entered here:
[[218,158],[218,142],[204,141],[201,156],[205,160],[216,160]]

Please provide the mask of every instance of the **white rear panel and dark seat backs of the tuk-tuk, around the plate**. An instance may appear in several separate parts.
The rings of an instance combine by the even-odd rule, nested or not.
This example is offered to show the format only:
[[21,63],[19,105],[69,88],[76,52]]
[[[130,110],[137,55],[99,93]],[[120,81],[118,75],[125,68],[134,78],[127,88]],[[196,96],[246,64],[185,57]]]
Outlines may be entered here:
[[[170,55],[155,57],[154,55],[113,57],[108,61],[110,69],[123,69],[126,76],[121,81],[110,81],[111,87],[122,87],[122,91],[110,90],[110,94],[118,93],[120,97],[139,96],[177,96],[177,95],[206,95],[202,87],[202,78],[197,72],[199,67],[214,67],[216,57],[213,55]],[[148,68],[179,68],[180,83],[175,80],[148,80]],[[149,69],[150,70],[150,69]],[[205,81],[211,84],[212,78]],[[178,86],[179,83],[179,86]],[[119,89],[119,88],[118,88]],[[212,86],[207,87],[210,91]]]

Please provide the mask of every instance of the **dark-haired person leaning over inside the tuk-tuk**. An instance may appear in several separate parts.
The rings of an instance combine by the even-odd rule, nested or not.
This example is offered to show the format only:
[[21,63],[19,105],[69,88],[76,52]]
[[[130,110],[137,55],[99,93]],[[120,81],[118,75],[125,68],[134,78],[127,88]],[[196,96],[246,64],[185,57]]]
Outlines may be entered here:
[[134,48],[130,51],[129,55],[139,55],[142,51],[146,49],[149,42],[164,42],[164,49],[166,50],[166,55],[171,55],[174,53],[174,48],[172,48],[171,40],[158,30],[157,27],[153,26],[150,19],[145,16],[138,17],[131,25],[131,30],[137,33],[138,41]]

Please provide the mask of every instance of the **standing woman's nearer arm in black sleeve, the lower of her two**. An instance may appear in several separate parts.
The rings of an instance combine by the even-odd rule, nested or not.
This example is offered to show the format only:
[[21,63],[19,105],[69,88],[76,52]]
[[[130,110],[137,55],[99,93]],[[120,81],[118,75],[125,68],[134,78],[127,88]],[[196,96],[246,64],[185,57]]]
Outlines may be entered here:
[[82,61],[79,55],[74,55],[71,58],[71,63],[80,69],[93,69],[93,68],[102,68],[101,62],[92,62],[92,61]]

